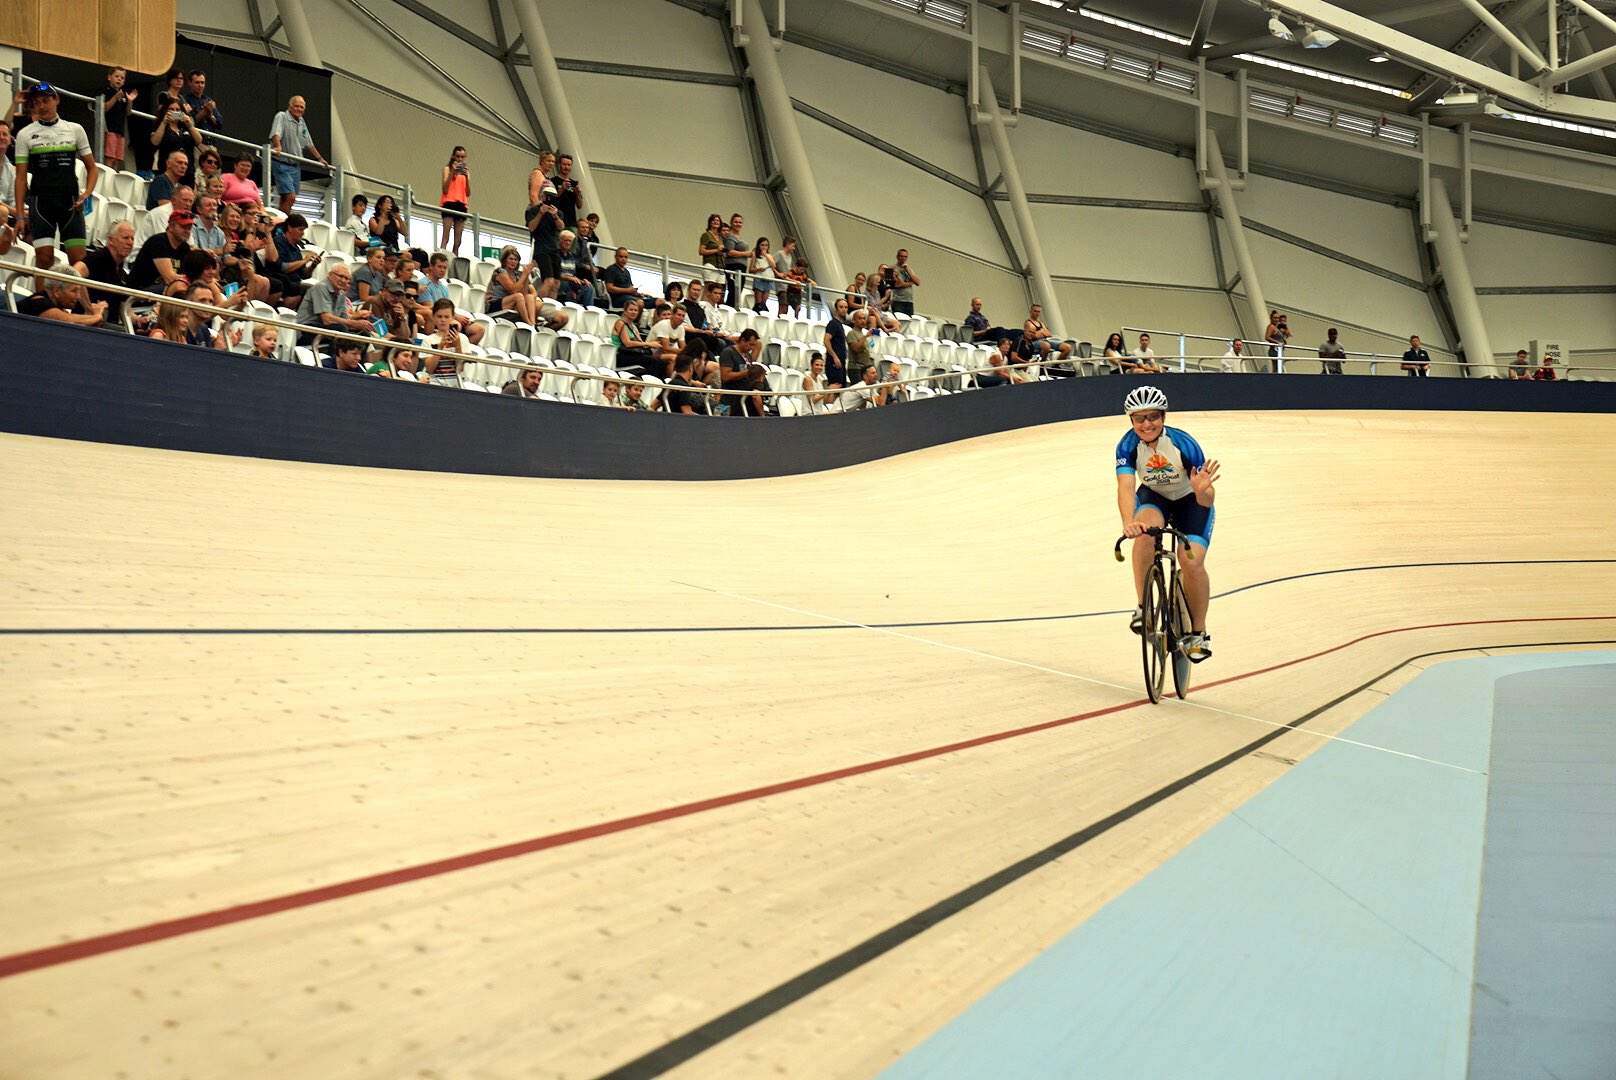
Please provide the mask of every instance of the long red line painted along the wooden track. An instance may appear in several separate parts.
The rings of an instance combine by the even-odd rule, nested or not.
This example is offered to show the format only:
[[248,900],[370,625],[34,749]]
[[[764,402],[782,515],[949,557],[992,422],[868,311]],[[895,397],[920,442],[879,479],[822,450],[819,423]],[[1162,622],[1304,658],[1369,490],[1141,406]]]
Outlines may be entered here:
[[[1608,621],[1613,618],[1616,616],[1590,614],[1590,616],[1551,616],[1551,618],[1527,618],[1527,619],[1469,619],[1464,622],[1427,622],[1424,626],[1404,626],[1390,631],[1375,631],[1374,634],[1364,634],[1361,637],[1354,637],[1349,642],[1343,642],[1340,645],[1319,650],[1317,653],[1309,653],[1307,656],[1298,656],[1294,660],[1286,660],[1283,663],[1270,664],[1267,668],[1257,668],[1256,671],[1248,671],[1244,674],[1230,676],[1227,679],[1218,679],[1215,682],[1207,682],[1201,689],[1227,686],[1230,682],[1239,682],[1241,679],[1252,679],[1260,674],[1269,674],[1270,671],[1280,671],[1281,668],[1290,668],[1299,663],[1306,663],[1309,660],[1317,660],[1319,656],[1328,656],[1330,653],[1336,653],[1341,652],[1343,648],[1349,648],[1361,642],[1367,642],[1374,637],[1385,637],[1388,634],[1409,634],[1414,631],[1448,629],[1456,626],[1496,626],[1500,622],[1597,622],[1597,621]],[[464,855],[436,859],[433,862],[419,863],[415,867],[404,867],[399,870],[388,870],[386,873],[373,873],[364,878],[338,881],[335,884],[325,884],[317,889],[304,889],[302,892],[288,892],[284,896],[275,896],[267,901],[254,901],[252,904],[221,907],[212,912],[186,915],[184,918],[171,918],[160,923],[147,923],[145,926],[118,930],[110,934],[81,938],[79,941],[66,941],[61,944],[47,946],[44,949],[15,952],[11,956],[0,957],[0,978],[10,978],[11,975],[23,975],[26,972],[37,972],[45,967],[69,964],[73,960],[82,960],[107,952],[118,952],[120,949],[133,949],[136,946],[150,944],[154,941],[163,941],[166,938],[179,938],[184,934],[199,933],[202,930],[228,926],[231,923],[241,923],[250,918],[276,915],[280,912],[289,912],[299,907],[325,904],[326,901],[339,901],[349,896],[357,896],[360,892],[373,892],[377,889],[386,889],[394,884],[406,884],[409,881],[420,881],[423,878],[436,878],[438,875],[454,873],[456,870],[469,870],[472,867],[482,867],[491,862],[501,862],[504,859],[517,859],[519,855],[530,855],[533,852],[548,850],[551,847],[566,847],[567,844],[577,844],[580,841],[595,839],[598,836],[627,833],[629,829],[643,828],[646,825],[658,825],[661,821],[685,818],[695,813],[705,813],[708,810],[734,807],[742,802],[753,802],[758,799],[768,799],[769,795],[779,795],[790,791],[802,791],[803,787],[816,787],[819,784],[829,784],[832,781],[847,779],[850,776],[861,776],[865,773],[876,773],[881,770],[895,768],[898,765],[924,761],[926,758],[942,757],[944,753],[970,750],[994,742],[1004,742],[1005,739],[1018,739],[1021,736],[1036,734],[1039,731],[1049,731],[1052,728],[1063,728],[1067,724],[1075,724],[1083,719],[1094,719],[1096,716],[1107,716],[1110,713],[1120,713],[1123,710],[1138,708],[1139,705],[1146,703],[1147,698],[1141,697],[1131,702],[1123,702],[1120,705],[1109,705],[1105,708],[1096,708],[1088,713],[1076,713],[1075,716],[1047,719],[1039,724],[1028,724],[1026,728],[1013,728],[1010,731],[999,731],[987,736],[976,736],[974,739],[962,739],[960,742],[949,742],[941,747],[913,750],[910,753],[900,753],[897,757],[881,758],[877,761],[850,765],[847,768],[831,770],[829,773],[814,773],[813,776],[800,776],[797,779],[787,779],[777,784],[766,784],[763,787],[748,787],[747,791],[737,791],[727,795],[716,795],[713,799],[685,802],[675,807],[664,807],[663,810],[651,810],[648,813],[637,813],[627,818],[616,818],[612,821],[601,821],[598,825],[587,825],[583,828],[567,829],[564,833],[551,833],[549,836],[537,836],[533,839],[517,841],[516,844],[485,847],[482,850],[467,852]]]

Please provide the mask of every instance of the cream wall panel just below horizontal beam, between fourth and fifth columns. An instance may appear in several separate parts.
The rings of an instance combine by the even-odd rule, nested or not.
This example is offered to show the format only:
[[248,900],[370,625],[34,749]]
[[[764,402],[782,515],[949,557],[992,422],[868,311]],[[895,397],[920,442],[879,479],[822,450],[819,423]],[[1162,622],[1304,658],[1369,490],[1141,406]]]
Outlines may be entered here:
[[[1000,207],[1013,234],[1010,207]],[[1033,221],[1052,275],[1217,285],[1204,213],[1033,204]]]

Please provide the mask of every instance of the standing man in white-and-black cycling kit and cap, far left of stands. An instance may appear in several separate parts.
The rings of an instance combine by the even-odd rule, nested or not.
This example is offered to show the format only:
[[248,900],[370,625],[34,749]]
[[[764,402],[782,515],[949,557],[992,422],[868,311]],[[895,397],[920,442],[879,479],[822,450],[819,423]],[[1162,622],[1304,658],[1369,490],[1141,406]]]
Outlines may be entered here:
[[[95,191],[95,155],[84,128],[61,120],[61,95],[48,82],[27,92],[34,123],[16,136],[16,213],[27,215],[34,265],[48,270],[57,259],[57,236],[68,262],[84,259],[84,200]],[[73,170],[84,163],[84,189]]]

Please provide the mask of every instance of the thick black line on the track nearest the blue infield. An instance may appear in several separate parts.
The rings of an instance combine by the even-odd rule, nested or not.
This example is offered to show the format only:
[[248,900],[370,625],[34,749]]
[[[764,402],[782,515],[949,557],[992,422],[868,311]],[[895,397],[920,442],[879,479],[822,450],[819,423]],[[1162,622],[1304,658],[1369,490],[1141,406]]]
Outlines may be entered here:
[[1021,878],[1026,878],[1036,870],[1047,867],[1062,855],[1067,855],[1076,850],[1078,847],[1083,847],[1089,841],[1104,836],[1105,833],[1128,821],[1130,818],[1144,813],[1151,807],[1176,795],[1186,787],[1191,787],[1193,784],[1201,783],[1207,776],[1212,776],[1214,773],[1228,768],[1235,761],[1239,761],[1241,758],[1260,750],[1275,739],[1280,739],[1285,734],[1301,728],[1307,721],[1315,719],[1317,716],[1330,711],[1332,708],[1348,700],[1349,697],[1362,694],[1375,682],[1380,682],[1382,679],[1401,671],[1416,660],[1425,660],[1429,656],[1445,656],[1450,653],[1471,653],[1488,648],[1532,648],[1532,647],[1564,647],[1564,645],[1616,645],[1616,639],[1576,640],[1576,642],[1519,642],[1511,645],[1466,645],[1462,648],[1438,648],[1433,652],[1416,653],[1412,656],[1408,656],[1406,660],[1387,668],[1375,677],[1366,679],[1364,682],[1353,687],[1346,694],[1340,694],[1325,702],[1324,705],[1302,713],[1296,719],[1286,723],[1283,728],[1275,728],[1265,736],[1259,736],[1257,739],[1252,739],[1246,745],[1231,750],[1223,757],[1209,761],[1207,765],[1202,765],[1196,771],[1180,776],[1170,784],[1157,787],[1151,794],[1136,799],[1134,802],[1100,818],[1099,821],[1086,825],[1076,833],[1071,833],[1070,836],[1065,836],[1055,841],[1054,844],[1041,850],[1036,850],[1031,855],[1026,855],[1025,859],[1018,859],[1008,867],[1004,867],[1002,870],[997,870],[987,875],[986,878],[981,878],[979,881],[965,886],[958,892],[937,901],[931,907],[924,907],[910,915],[908,918],[894,923],[892,926],[887,926],[886,930],[871,934],[869,938],[865,938],[858,944],[839,952],[829,960],[816,964],[806,972],[802,972],[800,975],[785,980],[784,983],[774,986],[772,989],[766,989],[756,998],[751,998],[750,1001],[743,1001],[742,1004],[735,1006],[729,1012],[724,1012],[708,1020],[706,1023],[692,1028],[690,1031],[685,1031],[679,1038],[671,1040],[658,1046],[656,1049],[642,1054],[640,1057],[635,1057],[630,1062],[617,1065],[611,1072],[603,1072],[600,1077],[596,1077],[596,1080],[643,1080],[646,1077],[661,1077],[664,1072],[677,1069],[692,1057],[696,1057],[698,1054],[713,1049],[719,1043],[734,1038],[735,1035],[740,1035],[755,1023],[768,1020],[776,1012],[781,1012],[789,1006],[797,1004],[808,994],[824,989],[826,986],[842,978],[844,975],[848,975],[863,967],[865,964],[869,964],[871,960],[876,960],[881,956],[890,952],[892,949],[897,949],[898,946],[908,943],[910,939],[918,938],[932,926],[942,923],[947,918],[952,918],[953,915],[958,915],[960,912],[970,909],[971,905],[987,899],[994,892],[999,892],[1000,889],[1015,884]]

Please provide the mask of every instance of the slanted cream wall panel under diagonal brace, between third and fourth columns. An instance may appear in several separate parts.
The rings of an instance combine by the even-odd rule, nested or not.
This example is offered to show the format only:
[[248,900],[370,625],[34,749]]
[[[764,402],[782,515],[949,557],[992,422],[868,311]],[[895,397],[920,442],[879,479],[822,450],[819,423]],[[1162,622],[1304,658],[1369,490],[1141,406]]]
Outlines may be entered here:
[[[999,233],[978,196],[800,113],[797,126],[826,205],[1004,264]],[[890,262],[892,252],[886,259]]]

